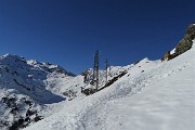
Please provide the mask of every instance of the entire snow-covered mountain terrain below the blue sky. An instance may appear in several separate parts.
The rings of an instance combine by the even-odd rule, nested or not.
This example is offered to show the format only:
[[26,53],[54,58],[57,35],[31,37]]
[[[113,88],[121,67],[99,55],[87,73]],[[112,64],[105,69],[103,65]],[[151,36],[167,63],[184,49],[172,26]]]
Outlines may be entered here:
[[161,60],[99,70],[96,91],[91,68],[0,56],[0,129],[194,130],[194,44],[192,24]]

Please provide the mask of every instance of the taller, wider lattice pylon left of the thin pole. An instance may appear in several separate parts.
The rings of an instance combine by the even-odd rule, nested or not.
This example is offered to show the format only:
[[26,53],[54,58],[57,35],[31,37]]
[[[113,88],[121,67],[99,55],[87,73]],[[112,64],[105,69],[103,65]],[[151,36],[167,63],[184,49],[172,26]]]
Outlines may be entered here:
[[95,52],[94,55],[94,67],[93,67],[93,82],[96,86],[96,91],[99,89],[99,50]]

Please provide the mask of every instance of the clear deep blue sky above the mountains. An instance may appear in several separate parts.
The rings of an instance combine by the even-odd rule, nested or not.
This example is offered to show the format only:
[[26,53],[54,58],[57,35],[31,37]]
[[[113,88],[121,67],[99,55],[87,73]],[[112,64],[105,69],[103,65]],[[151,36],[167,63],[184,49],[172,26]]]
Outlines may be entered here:
[[195,0],[0,0],[0,54],[79,74],[101,53],[112,65],[160,58],[195,22]]

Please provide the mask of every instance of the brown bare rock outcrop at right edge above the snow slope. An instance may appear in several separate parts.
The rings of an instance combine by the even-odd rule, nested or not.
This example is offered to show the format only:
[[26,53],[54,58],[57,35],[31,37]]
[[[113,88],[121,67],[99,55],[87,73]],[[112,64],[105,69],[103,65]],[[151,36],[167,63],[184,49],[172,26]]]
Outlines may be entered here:
[[191,24],[185,32],[184,38],[178,43],[176,47],[176,51],[173,54],[170,54],[170,51],[168,51],[161,61],[169,61],[174,58],[176,56],[186,52],[192,48],[193,39],[195,39],[195,24]]

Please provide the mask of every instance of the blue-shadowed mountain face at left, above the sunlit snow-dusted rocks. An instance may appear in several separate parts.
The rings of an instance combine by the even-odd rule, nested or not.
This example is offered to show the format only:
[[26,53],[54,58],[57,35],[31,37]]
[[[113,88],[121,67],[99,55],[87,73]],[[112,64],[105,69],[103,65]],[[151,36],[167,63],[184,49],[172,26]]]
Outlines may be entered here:
[[12,54],[0,56],[0,89],[14,89],[14,92],[28,95],[40,103],[57,101],[57,98],[54,98],[55,101],[50,100],[55,95],[46,89],[44,83],[53,73],[64,77],[73,75],[58,65],[26,61]]

